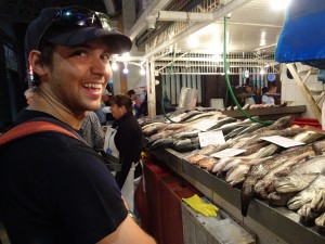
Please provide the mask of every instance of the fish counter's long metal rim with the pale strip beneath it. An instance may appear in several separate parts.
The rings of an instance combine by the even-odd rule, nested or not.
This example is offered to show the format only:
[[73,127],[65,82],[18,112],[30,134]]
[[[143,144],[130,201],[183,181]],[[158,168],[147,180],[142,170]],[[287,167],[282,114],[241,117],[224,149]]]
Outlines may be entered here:
[[285,207],[271,207],[265,201],[253,198],[248,216],[244,218],[240,215],[240,190],[192,165],[185,159],[186,154],[171,149],[155,150],[151,153],[226,210],[234,219],[252,230],[257,234],[258,243],[325,243],[325,236],[318,234],[314,228],[307,228],[299,222],[298,214]]

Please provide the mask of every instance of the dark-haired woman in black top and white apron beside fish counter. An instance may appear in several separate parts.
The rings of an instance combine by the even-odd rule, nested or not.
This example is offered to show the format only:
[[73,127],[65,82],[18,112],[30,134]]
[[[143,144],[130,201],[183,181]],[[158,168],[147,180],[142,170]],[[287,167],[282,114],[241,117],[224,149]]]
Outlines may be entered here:
[[[110,99],[112,115],[116,119],[112,126],[112,133],[109,137],[108,152],[119,158],[122,164],[121,171],[115,176],[119,189],[131,189],[134,179],[142,176],[142,166],[139,163],[142,150],[142,130],[132,113],[132,100],[126,94],[117,94]],[[115,131],[114,131],[115,130]],[[107,137],[107,136],[106,136]],[[107,150],[106,150],[107,152]],[[132,176],[132,174],[134,174]],[[130,179],[130,180],[128,180]],[[127,185],[129,184],[129,185]],[[131,195],[132,193],[125,193]],[[133,198],[127,202],[132,206]]]

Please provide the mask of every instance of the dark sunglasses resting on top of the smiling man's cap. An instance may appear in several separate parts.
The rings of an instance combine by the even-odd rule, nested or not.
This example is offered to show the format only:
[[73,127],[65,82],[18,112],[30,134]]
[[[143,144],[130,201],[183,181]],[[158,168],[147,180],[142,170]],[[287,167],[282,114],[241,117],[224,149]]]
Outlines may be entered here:
[[40,35],[37,42],[37,49],[40,50],[44,44],[44,37],[53,28],[73,28],[73,27],[99,27],[110,31],[112,26],[109,17],[101,12],[95,12],[82,7],[66,7],[61,9],[51,20],[44,31]]

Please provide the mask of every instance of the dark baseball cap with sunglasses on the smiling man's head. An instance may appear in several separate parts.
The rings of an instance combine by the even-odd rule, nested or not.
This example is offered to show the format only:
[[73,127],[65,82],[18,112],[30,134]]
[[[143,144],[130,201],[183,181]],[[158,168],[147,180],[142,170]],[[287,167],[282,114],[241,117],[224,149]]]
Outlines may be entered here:
[[112,53],[128,52],[132,48],[129,37],[112,30],[109,17],[104,13],[78,5],[48,8],[29,24],[25,47],[29,53],[41,50],[47,42],[77,46],[98,38],[112,48]]

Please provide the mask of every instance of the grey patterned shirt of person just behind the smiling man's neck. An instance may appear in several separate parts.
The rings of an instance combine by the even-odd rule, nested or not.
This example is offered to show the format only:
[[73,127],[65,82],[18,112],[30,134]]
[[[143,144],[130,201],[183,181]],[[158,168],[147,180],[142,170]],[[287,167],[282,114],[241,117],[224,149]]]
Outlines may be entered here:
[[104,131],[102,130],[100,119],[94,112],[88,112],[79,133],[96,152],[104,149]]

